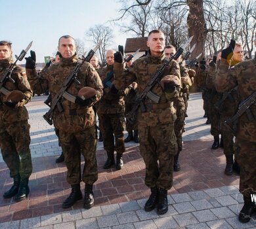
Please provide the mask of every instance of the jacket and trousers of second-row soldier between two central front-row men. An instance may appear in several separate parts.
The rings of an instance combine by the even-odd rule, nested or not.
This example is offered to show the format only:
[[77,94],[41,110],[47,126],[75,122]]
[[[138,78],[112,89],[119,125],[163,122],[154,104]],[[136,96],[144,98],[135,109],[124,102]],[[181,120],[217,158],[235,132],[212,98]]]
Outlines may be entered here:
[[[100,79],[113,71],[114,65],[106,65],[98,71]],[[112,78],[114,80],[114,77]],[[102,132],[103,145],[106,152],[123,154],[125,152],[125,143],[123,131],[125,130],[125,102],[123,100],[124,91],[118,94],[110,92],[110,88],[104,88],[104,94],[100,101],[96,103],[96,110],[100,123],[100,132]],[[116,146],[115,140],[116,139]]]

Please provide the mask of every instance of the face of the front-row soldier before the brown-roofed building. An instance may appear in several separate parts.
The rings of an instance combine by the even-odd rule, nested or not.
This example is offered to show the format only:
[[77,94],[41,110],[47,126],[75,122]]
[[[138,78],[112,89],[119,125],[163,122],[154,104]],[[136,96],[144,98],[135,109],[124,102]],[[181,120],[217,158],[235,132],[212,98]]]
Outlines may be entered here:
[[165,48],[165,36],[163,33],[151,33],[148,37],[147,46],[152,56],[160,56]]

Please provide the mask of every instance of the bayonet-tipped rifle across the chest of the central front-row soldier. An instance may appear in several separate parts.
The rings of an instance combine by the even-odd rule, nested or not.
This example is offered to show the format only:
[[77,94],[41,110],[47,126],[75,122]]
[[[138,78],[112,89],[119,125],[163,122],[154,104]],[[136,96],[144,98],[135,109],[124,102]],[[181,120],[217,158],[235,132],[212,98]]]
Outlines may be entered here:
[[139,107],[142,112],[146,111],[146,107],[144,105],[144,99],[146,99],[146,97],[148,97],[148,94],[151,92],[152,88],[154,88],[154,86],[157,83],[160,83],[160,79],[163,76],[165,68],[169,65],[169,63],[171,63],[172,60],[177,60],[177,58],[179,58],[179,56],[181,56],[182,52],[188,46],[188,44],[190,44],[192,39],[193,39],[193,36],[190,37],[190,39],[188,39],[188,41],[186,41],[186,43],[183,44],[181,46],[181,48],[179,48],[179,50],[177,50],[175,55],[171,56],[170,60],[165,59],[165,63],[160,67],[160,69],[158,69],[158,71],[156,71],[156,73],[152,76],[152,79],[150,80],[150,82],[148,82],[146,88],[144,88],[144,90],[137,96],[137,99],[135,101],[135,105],[133,106],[133,109],[131,109],[131,111],[126,116],[127,120],[131,124],[133,123],[134,114]]

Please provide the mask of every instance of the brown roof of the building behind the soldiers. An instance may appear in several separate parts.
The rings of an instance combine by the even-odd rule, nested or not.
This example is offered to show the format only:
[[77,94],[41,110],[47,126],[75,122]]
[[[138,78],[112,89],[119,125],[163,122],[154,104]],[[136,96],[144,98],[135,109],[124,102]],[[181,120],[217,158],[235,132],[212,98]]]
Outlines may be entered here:
[[140,52],[148,50],[146,41],[148,41],[148,37],[127,38],[125,43],[125,52],[135,52],[139,48]]

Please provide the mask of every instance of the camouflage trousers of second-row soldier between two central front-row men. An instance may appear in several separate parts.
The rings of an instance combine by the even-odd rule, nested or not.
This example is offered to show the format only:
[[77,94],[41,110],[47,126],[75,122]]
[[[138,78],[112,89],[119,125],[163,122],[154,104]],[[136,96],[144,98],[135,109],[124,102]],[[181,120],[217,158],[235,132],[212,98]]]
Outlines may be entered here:
[[[125,117],[123,113],[119,114],[98,114],[100,122],[100,131],[103,138],[104,150],[122,154],[125,152],[125,140],[123,131],[125,130]],[[115,140],[116,138],[116,146]]]

